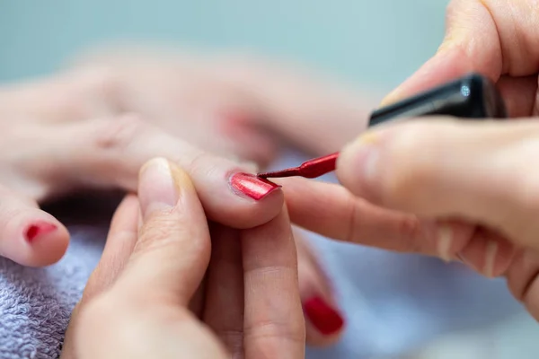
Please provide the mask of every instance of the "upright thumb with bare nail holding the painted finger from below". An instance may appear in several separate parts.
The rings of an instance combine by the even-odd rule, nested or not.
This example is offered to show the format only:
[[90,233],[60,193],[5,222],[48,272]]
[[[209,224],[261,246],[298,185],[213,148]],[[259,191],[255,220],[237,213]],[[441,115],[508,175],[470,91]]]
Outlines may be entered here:
[[146,163],[140,176],[143,225],[135,248],[110,291],[81,311],[76,354],[224,357],[220,344],[187,309],[210,251],[195,189],[187,174],[165,159]]

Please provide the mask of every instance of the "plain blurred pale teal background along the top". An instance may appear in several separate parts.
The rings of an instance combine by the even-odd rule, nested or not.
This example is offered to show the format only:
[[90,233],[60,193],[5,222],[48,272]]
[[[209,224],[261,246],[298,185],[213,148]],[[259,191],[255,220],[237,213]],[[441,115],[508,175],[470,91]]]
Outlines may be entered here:
[[444,0],[0,0],[0,81],[102,41],[151,39],[291,57],[389,90],[436,50]]

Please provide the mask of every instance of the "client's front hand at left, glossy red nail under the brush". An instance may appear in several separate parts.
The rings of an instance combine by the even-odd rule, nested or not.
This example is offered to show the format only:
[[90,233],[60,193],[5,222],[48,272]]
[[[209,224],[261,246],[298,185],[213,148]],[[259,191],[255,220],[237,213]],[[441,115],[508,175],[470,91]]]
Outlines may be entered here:
[[255,169],[205,153],[135,115],[1,118],[0,124],[0,255],[23,265],[54,263],[67,247],[66,228],[40,210],[40,201],[82,188],[136,191],[140,167],[155,156],[190,172],[217,223],[252,228],[283,206],[277,185],[245,173]]

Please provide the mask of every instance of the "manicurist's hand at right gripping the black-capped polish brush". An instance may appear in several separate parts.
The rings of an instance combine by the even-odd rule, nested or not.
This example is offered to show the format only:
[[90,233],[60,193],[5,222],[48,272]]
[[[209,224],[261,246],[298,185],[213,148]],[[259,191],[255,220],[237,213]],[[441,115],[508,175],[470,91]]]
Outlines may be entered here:
[[[437,55],[386,100],[475,71],[497,81],[510,115],[519,119],[425,118],[377,127],[349,144],[338,161],[341,183],[357,197],[339,188],[302,189],[323,193],[319,206],[331,215],[322,215],[316,226],[335,222],[324,230],[329,235],[460,259],[486,276],[505,275],[512,293],[539,319],[539,172],[533,166],[539,153],[539,32],[533,24],[539,14],[534,6],[533,1],[454,1]],[[307,200],[298,187],[287,183],[287,201],[303,208]],[[363,217],[357,215],[368,207]],[[403,241],[369,240],[362,236],[366,220],[384,223],[384,231],[402,225]]]

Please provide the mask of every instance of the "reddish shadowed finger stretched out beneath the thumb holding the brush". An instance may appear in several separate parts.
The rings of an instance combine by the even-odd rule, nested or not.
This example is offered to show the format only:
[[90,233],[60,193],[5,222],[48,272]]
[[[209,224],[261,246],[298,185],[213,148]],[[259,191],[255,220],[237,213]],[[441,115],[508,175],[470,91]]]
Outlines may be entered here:
[[464,220],[418,218],[373,205],[334,184],[304,179],[279,183],[292,221],[335,240],[460,260],[484,276],[505,273],[514,253],[514,246],[495,232],[478,231]]

